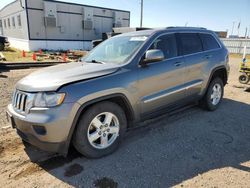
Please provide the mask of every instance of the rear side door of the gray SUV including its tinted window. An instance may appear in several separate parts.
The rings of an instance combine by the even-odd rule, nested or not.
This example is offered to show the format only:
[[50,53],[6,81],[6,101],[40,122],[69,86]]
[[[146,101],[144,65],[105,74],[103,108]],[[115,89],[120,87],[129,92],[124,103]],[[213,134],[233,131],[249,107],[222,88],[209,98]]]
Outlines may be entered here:
[[195,96],[201,91],[205,76],[204,67],[208,60],[203,53],[203,46],[198,33],[178,33],[178,42],[186,65],[186,96]]

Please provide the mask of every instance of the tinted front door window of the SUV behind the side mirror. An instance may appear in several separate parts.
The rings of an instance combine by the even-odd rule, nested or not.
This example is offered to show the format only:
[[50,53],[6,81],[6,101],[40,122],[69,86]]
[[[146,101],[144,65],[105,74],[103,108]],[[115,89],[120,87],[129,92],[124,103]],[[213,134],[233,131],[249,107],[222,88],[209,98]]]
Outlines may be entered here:
[[175,34],[166,34],[157,38],[149,50],[161,50],[165,59],[177,57],[177,44]]

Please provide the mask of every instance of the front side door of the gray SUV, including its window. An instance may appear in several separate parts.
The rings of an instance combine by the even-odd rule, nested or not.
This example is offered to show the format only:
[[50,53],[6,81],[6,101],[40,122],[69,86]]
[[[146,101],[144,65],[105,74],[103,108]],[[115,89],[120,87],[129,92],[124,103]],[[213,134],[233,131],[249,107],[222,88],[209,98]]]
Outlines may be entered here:
[[183,86],[185,65],[178,55],[175,34],[165,34],[153,42],[149,49],[160,49],[165,59],[139,67],[141,113],[148,114],[185,97]]

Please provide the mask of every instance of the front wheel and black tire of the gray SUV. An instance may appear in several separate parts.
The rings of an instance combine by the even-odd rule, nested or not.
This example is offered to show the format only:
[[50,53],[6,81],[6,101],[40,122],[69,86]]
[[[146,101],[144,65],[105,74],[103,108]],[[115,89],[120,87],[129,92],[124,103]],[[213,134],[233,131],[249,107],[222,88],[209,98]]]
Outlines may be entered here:
[[126,129],[127,119],[119,105],[97,103],[81,115],[74,132],[73,145],[88,158],[101,158],[118,148]]

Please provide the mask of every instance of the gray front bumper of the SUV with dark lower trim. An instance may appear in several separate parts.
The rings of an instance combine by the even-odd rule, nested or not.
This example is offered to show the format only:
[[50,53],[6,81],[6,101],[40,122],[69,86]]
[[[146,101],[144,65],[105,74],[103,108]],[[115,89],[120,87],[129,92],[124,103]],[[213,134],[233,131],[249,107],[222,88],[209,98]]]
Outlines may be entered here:
[[73,103],[67,103],[56,108],[31,109],[24,116],[10,104],[7,116],[24,141],[44,151],[66,154],[75,108]]

